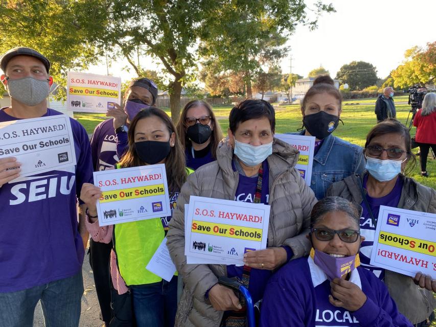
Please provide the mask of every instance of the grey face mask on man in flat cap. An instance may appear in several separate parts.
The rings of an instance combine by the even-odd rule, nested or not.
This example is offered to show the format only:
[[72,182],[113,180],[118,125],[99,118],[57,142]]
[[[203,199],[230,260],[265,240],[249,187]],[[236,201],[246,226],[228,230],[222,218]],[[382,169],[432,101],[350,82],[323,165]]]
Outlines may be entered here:
[[27,106],[36,106],[49,96],[47,80],[25,77],[17,80],[8,79],[8,92],[11,98]]

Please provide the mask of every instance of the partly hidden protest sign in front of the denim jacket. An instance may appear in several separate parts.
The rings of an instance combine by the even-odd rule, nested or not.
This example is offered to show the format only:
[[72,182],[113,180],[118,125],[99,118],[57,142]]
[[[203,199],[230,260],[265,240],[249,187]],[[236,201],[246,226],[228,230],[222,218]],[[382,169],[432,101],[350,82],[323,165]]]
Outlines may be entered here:
[[295,168],[299,170],[301,177],[310,185],[312,180],[313,151],[315,150],[315,136],[275,134],[274,137],[290,144],[300,151]]

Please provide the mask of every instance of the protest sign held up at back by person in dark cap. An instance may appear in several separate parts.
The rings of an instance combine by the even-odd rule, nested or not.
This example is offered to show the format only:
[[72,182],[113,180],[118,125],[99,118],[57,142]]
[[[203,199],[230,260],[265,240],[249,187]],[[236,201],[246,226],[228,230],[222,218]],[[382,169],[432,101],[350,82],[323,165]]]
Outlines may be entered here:
[[105,113],[121,102],[121,78],[68,72],[66,97],[70,110]]

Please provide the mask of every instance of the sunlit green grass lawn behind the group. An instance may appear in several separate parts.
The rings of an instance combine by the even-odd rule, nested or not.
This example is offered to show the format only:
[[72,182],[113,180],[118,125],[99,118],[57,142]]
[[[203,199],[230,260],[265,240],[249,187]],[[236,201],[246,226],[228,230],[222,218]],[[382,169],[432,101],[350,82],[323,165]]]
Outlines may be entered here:
[[[397,102],[407,101],[407,96],[396,97]],[[334,134],[343,138],[351,143],[364,146],[366,134],[377,123],[374,114],[374,104],[376,99],[353,99],[343,102],[341,119],[345,125],[339,123],[339,127]],[[346,105],[352,104],[354,105]],[[356,105],[360,103],[362,105]],[[397,104],[397,119],[402,123],[406,122],[410,106],[407,104]],[[276,106],[276,132],[293,132],[302,126],[302,118],[299,105],[289,106]],[[171,115],[169,108],[163,108],[169,115]],[[227,134],[228,128],[228,113],[232,106],[219,106],[214,108],[214,112],[218,117],[219,123],[224,134]],[[75,118],[85,127],[88,133],[92,133],[95,126],[102,120],[106,119],[104,114],[98,113],[75,113]],[[411,133],[415,134],[415,127],[412,127]],[[418,152],[418,148],[414,152]],[[417,158],[417,167],[410,174],[410,177],[416,179],[420,183],[436,188],[436,160],[432,159],[431,152],[427,160],[427,171],[430,177],[421,177],[421,170],[419,168],[419,158]]]

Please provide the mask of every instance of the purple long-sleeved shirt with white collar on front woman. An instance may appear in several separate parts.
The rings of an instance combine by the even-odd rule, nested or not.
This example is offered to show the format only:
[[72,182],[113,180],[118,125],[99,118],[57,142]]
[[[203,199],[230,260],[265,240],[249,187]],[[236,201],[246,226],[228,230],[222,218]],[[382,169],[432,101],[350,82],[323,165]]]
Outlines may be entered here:
[[358,267],[349,281],[366,295],[365,303],[356,311],[331,305],[330,281],[312,258],[289,262],[268,281],[261,326],[412,327],[372,272]]

